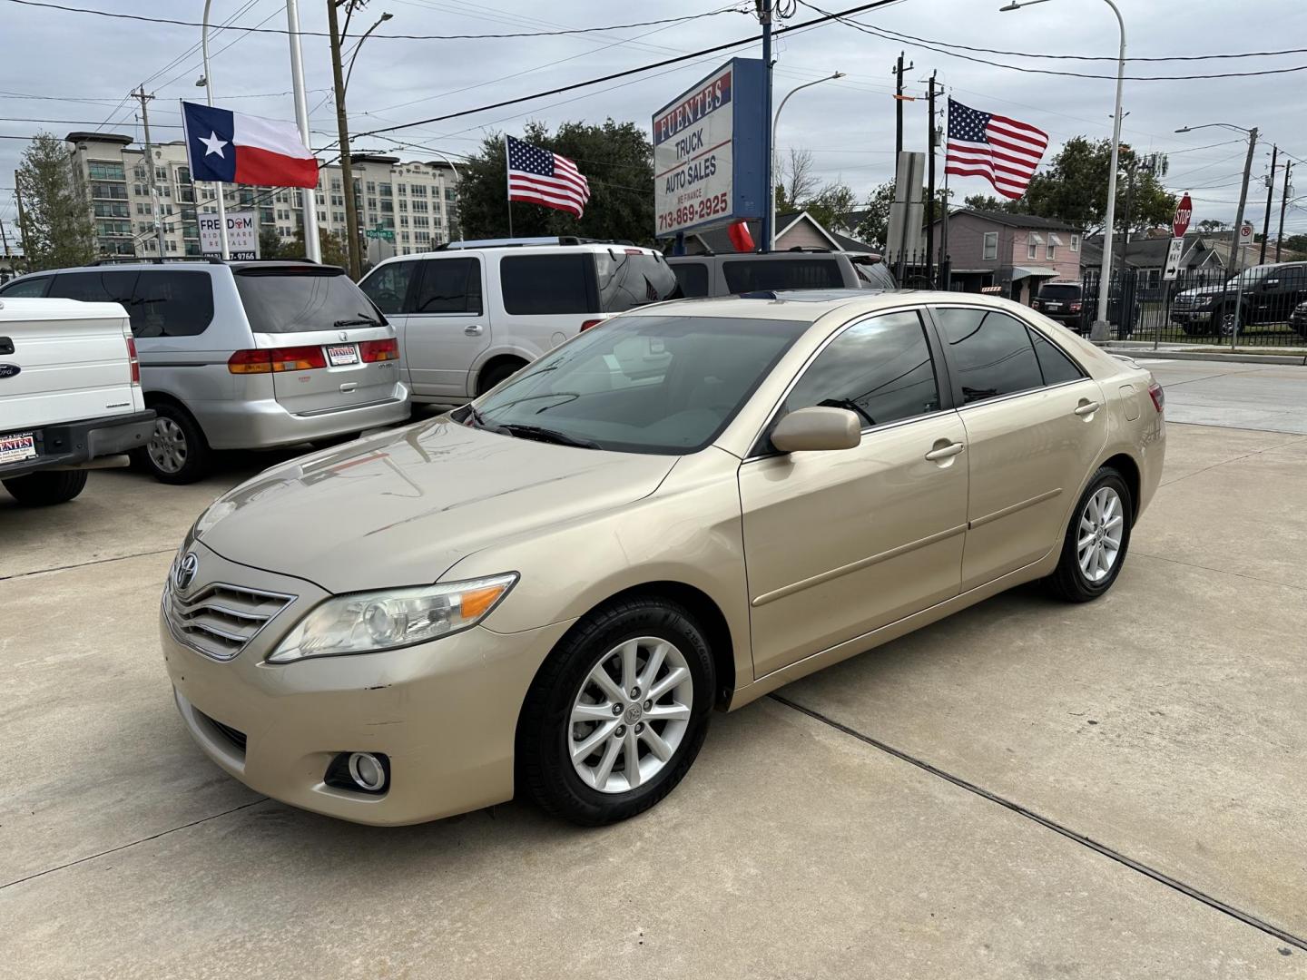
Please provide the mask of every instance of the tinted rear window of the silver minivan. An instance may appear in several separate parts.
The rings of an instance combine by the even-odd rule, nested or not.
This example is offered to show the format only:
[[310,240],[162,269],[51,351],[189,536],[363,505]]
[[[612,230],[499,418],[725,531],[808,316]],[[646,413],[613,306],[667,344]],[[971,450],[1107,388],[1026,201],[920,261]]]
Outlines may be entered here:
[[340,269],[242,269],[237,291],[255,333],[306,333],[384,323],[376,307]]

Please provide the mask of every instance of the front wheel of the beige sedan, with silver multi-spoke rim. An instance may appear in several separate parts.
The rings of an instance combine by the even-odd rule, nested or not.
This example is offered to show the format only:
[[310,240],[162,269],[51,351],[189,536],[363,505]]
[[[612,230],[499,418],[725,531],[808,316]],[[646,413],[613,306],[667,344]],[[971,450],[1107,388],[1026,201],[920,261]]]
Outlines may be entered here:
[[603,606],[558,643],[518,723],[519,785],[584,826],[634,817],[676,788],[707,734],[712,655],[687,610]]

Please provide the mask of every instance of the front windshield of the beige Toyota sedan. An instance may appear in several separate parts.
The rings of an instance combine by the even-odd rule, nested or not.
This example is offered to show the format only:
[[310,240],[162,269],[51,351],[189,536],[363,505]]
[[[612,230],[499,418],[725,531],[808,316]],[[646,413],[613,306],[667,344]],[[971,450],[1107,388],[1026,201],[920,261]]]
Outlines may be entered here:
[[455,413],[570,446],[682,455],[711,443],[808,321],[617,316]]

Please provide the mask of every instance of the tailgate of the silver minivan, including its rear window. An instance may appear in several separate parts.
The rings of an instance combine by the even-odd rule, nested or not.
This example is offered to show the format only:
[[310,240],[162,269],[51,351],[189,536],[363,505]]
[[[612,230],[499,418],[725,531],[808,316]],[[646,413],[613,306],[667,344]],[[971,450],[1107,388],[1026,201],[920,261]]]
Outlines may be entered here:
[[329,265],[233,269],[254,332],[273,350],[273,393],[288,412],[314,414],[389,401],[399,376],[391,327],[362,290]]

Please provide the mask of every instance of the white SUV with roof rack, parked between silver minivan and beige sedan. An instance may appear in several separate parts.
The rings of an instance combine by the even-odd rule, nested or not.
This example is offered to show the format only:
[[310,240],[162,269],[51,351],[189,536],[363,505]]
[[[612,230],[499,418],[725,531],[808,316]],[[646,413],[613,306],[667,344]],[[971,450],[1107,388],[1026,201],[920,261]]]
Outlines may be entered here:
[[668,299],[652,248],[578,238],[455,242],[359,282],[395,324],[414,401],[465,401],[605,316]]

